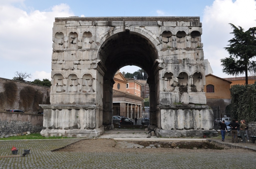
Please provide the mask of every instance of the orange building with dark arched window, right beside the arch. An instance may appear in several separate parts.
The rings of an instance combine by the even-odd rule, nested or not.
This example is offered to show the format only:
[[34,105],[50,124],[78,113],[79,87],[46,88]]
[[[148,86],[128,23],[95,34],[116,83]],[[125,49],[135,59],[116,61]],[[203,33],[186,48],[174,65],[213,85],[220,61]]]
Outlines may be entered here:
[[231,103],[230,84],[232,82],[214,76],[212,74],[205,75],[205,96],[207,105],[211,108],[220,106],[220,109],[225,109]]

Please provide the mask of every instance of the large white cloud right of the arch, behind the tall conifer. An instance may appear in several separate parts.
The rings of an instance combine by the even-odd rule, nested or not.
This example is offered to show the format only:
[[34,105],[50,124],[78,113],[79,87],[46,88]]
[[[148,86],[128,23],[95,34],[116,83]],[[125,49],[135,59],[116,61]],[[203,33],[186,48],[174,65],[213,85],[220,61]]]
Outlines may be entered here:
[[229,57],[223,48],[227,47],[228,40],[233,36],[229,23],[241,26],[245,30],[254,27],[256,22],[256,2],[254,0],[215,0],[209,7],[206,6],[202,18],[205,59],[208,59],[214,75],[229,77],[222,73],[220,59]]

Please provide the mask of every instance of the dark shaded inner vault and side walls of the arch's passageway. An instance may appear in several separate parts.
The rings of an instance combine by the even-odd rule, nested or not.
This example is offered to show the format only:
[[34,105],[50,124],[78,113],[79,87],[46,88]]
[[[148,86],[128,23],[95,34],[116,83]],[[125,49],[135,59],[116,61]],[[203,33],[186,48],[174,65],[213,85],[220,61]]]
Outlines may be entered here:
[[154,44],[136,32],[124,31],[110,36],[101,45],[98,60],[106,67],[103,76],[103,125],[112,123],[113,77],[120,68],[136,65],[148,74],[150,87],[150,122],[156,125],[155,78],[153,65],[158,59]]

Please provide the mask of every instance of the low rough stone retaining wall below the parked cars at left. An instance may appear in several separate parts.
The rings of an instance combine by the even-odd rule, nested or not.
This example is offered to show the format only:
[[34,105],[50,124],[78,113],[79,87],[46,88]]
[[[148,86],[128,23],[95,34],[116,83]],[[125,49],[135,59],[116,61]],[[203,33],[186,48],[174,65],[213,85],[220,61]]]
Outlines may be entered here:
[[42,129],[43,115],[0,112],[0,135],[38,133]]

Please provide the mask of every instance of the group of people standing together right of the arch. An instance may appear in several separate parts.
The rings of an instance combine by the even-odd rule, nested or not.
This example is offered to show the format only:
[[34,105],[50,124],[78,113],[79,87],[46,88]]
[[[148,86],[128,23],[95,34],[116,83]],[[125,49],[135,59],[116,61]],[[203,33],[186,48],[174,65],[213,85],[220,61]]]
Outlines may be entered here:
[[[237,120],[233,119],[231,123],[228,124],[229,127],[231,127],[231,134],[232,134],[232,143],[238,143],[237,134],[240,133],[242,138],[242,143],[246,143],[249,141],[247,130],[249,129],[248,123],[245,122],[245,120],[240,121],[241,124],[238,123]],[[222,141],[225,141],[225,133],[228,131],[227,125],[225,124],[225,121],[223,120],[220,122],[220,133],[222,137]],[[245,138],[246,137],[246,138]]]

